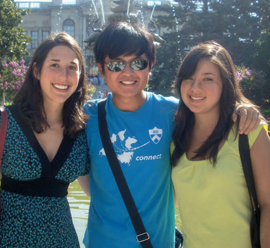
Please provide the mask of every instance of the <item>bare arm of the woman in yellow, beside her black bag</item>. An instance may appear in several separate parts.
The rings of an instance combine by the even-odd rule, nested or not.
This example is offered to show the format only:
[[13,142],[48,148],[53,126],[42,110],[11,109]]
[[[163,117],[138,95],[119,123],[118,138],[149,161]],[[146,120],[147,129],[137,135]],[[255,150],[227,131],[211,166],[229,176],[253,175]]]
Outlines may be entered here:
[[270,137],[263,128],[250,149],[252,170],[261,211],[261,247],[270,247]]

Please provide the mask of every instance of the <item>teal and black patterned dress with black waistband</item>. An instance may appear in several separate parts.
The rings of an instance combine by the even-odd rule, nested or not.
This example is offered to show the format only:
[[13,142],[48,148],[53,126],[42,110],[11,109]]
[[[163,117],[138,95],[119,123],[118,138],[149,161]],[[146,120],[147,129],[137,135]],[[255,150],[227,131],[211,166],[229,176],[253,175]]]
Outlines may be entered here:
[[19,108],[6,110],[0,248],[79,248],[66,194],[69,183],[89,173],[84,130],[73,139],[64,136],[49,162]]

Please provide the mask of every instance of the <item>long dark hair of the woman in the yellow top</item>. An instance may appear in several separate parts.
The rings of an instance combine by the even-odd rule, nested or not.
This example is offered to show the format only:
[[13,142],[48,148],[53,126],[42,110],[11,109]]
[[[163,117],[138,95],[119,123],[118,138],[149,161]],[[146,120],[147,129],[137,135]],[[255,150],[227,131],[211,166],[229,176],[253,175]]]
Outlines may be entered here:
[[[215,41],[208,41],[198,45],[183,60],[176,75],[175,88],[179,95],[181,95],[180,88],[182,80],[195,73],[197,64],[202,58],[208,58],[218,66],[222,80],[222,93],[219,101],[220,115],[216,127],[196,151],[196,155],[193,158],[209,158],[213,165],[215,165],[218,145],[224,138],[227,138],[232,127],[232,115],[235,111],[236,104],[252,103],[242,94],[236,79],[234,64],[228,51]],[[175,114],[175,129],[172,134],[175,145],[175,149],[171,155],[172,166],[176,166],[178,159],[185,153],[189,145],[194,122],[194,113],[189,110],[183,101],[180,101],[177,113]]]

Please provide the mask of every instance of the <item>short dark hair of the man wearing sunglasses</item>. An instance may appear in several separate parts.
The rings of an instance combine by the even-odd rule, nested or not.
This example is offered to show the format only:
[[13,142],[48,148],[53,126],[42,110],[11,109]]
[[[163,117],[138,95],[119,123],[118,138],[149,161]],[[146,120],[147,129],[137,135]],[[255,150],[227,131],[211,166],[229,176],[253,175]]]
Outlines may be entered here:
[[153,36],[135,23],[114,22],[106,27],[97,38],[94,46],[96,62],[102,64],[108,56],[115,59],[119,56],[146,54],[151,63],[156,61],[156,49]]

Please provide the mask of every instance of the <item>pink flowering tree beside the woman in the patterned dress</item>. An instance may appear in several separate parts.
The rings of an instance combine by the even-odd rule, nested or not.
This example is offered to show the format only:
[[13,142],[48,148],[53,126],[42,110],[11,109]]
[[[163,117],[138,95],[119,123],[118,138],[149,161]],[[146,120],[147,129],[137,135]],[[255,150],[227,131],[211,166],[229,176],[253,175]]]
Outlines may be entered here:
[[2,64],[3,69],[0,74],[0,93],[2,95],[2,105],[5,105],[5,98],[11,100],[16,91],[21,87],[28,66],[24,65],[24,60],[19,63],[14,61]]

